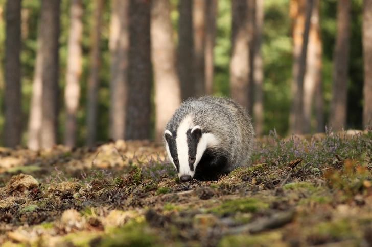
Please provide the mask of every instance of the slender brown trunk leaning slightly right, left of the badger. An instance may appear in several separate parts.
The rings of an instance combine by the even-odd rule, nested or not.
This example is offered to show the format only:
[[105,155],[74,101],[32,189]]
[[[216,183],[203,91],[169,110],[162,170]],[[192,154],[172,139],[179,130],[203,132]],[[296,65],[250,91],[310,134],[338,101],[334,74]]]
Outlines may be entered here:
[[87,93],[86,125],[88,129],[88,135],[86,145],[88,147],[93,147],[96,142],[103,0],[96,0],[95,4],[96,6],[93,15],[94,26],[91,30],[90,72],[88,78]]

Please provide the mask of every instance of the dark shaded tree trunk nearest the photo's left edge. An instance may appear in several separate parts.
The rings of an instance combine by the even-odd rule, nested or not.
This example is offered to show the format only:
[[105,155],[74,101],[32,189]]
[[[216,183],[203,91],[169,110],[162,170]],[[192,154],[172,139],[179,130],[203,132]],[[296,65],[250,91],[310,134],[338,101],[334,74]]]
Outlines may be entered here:
[[20,144],[22,134],[20,86],[20,15],[21,0],[8,0],[6,4],[5,39],[5,129],[6,147]]

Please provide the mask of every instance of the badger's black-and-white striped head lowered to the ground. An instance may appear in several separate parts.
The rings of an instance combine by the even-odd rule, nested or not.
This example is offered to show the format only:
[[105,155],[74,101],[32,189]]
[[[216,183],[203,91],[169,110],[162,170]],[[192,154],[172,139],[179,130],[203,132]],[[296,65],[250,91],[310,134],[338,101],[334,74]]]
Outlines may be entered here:
[[190,181],[205,150],[217,144],[212,133],[204,133],[191,118],[185,118],[176,131],[166,129],[164,139],[169,159],[182,182]]

